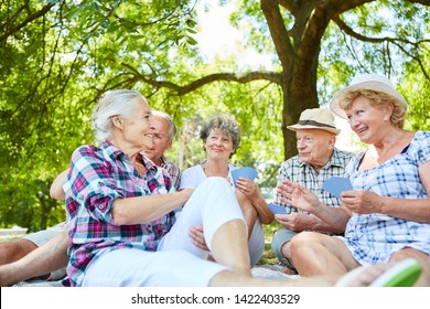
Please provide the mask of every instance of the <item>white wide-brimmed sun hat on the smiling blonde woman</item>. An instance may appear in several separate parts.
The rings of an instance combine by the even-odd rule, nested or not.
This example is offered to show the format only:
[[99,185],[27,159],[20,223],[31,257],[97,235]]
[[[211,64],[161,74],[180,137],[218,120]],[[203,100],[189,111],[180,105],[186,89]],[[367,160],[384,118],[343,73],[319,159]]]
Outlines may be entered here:
[[353,78],[350,86],[338,90],[330,103],[330,108],[338,117],[346,119],[346,113],[340,107],[340,103],[344,99],[345,95],[350,92],[358,89],[367,89],[390,95],[399,106],[408,109],[406,99],[395,89],[393,83],[385,76],[378,74],[361,74]]

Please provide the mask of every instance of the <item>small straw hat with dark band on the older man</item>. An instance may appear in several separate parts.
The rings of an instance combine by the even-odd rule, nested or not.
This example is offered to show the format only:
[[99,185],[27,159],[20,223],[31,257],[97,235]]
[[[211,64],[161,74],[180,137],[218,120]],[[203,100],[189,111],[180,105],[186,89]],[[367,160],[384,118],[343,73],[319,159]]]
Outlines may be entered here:
[[302,111],[299,122],[287,126],[288,129],[295,131],[300,129],[319,129],[338,135],[341,130],[334,126],[334,115],[324,108],[310,108]]

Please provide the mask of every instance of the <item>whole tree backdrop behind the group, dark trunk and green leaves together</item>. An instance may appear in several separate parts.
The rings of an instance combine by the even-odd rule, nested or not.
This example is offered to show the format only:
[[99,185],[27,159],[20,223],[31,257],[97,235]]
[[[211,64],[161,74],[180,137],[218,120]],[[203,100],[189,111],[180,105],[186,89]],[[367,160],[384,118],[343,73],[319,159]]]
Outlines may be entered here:
[[[39,192],[47,195],[72,151],[93,140],[90,110],[108,89],[140,89],[180,127],[197,128],[212,113],[234,114],[244,131],[237,160],[271,162],[266,168],[276,174],[277,164],[295,153],[286,125],[298,121],[303,109],[324,105],[353,73],[429,79],[422,21],[430,20],[430,1],[239,1],[232,21],[248,30],[244,45],[272,55],[271,72],[243,70],[234,58],[205,64],[193,39],[195,3],[1,2],[0,192],[8,196],[0,202],[1,222],[19,219],[32,228],[51,223],[50,216],[29,220],[40,217],[43,206],[62,209]],[[406,65],[410,60],[413,65]],[[410,115],[418,117],[411,126],[426,117]],[[198,147],[187,146],[198,158]]]

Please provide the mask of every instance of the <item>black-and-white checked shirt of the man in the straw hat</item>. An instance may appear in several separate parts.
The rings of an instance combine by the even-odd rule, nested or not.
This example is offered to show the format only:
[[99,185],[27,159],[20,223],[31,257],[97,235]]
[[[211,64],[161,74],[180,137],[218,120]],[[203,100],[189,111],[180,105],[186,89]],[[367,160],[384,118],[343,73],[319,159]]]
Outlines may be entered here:
[[[322,189],[323,182],[332,177],[346,177],[345,168],[354,156],[355,154],[353,152],[335,148],[332,158],[320,170],[320,173],[316,173],[310,164],[300,160],[299,156],[295,156],[288,159],[282,164],[279,171],[278,181],[290,180],[298,182],[308,190],[312,191],[324,204],[331,207],[338,207],[341,205],[341,201]],[[276,203],[284,206],[288,214],[299,211],[297,207],[282,203],[279,198],[280,194],[277,193]]]

